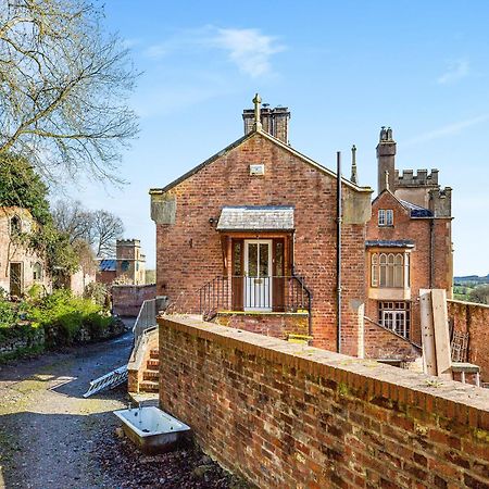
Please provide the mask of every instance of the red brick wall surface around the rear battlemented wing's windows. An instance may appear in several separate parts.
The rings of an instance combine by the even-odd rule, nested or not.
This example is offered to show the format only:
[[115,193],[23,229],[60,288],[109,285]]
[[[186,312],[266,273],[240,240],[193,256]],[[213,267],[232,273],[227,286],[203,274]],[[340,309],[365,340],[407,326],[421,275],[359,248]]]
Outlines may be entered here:
[[[379,209],[391,209],[393,211],[392,226],[378,226]],[[431,239],[431,233],[434,239]],[[384,192],[372,204],[372,218],[366,226],[366,239],[410,239],[414,241],[410,266],[411,339],[421,343],[419,289],[446,289],[449,297],[452,291],[451,218],[413,218],[410,211],[403,208],[390,192]],[[371,283],[368,252],[366,253],[366,261],[368,285]],[[431,279],[430,274],[432,274]],[[378,319],[376,300],[368,299],[365,311],[368,317]]]

